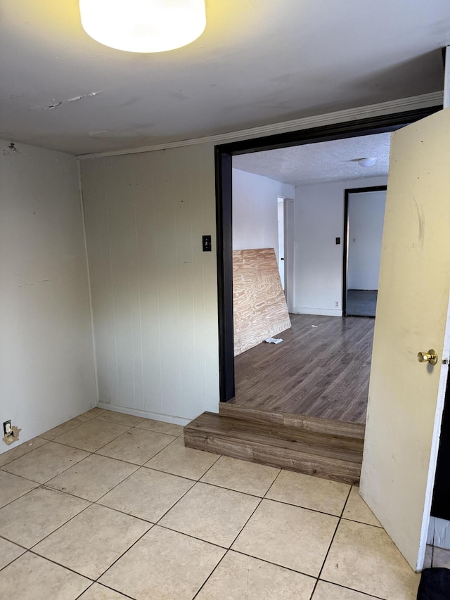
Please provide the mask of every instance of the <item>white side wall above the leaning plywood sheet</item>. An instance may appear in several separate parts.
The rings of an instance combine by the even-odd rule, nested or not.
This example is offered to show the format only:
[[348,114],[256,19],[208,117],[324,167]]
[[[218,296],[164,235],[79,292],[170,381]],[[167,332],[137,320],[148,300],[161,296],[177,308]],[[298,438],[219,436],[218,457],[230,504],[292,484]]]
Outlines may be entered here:
[[233,169],[233,250],[274,248],[278,262],[278,196],[294,186]]

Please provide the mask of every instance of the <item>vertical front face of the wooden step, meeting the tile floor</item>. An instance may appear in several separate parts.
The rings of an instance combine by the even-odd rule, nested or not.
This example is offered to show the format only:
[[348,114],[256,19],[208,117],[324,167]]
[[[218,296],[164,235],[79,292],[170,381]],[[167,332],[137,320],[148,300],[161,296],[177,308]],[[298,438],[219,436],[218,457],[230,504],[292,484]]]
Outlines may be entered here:
[[256,442],[245,443],[241,440],[224,440],[219,435],[204,434],[198,430],[185,429],[184,443],[188,448],[223,454],[227,457],[277,468],[286,468],[290,471],[315,475],[316,477],[341,483],[359,485],[361,465],[354,462],[319,457],[314,454],[283,447],[266,446]]

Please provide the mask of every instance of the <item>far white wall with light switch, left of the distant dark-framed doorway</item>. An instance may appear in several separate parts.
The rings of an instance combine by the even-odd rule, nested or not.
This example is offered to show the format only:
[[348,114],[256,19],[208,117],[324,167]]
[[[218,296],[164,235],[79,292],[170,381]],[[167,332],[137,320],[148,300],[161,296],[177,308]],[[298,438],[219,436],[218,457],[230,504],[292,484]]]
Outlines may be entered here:
[[345,189],[386,182],[385,177],[368,177],[295,189],[293,312],[342,315]]

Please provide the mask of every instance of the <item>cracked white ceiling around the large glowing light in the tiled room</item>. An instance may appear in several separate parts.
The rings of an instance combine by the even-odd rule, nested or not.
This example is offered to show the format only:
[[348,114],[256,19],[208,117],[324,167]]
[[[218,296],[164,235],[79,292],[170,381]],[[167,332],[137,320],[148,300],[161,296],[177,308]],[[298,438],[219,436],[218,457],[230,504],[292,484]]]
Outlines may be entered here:
[[71,153],[439,91],[450,44],[449,0],[207,0],[203,35],[157,54],[89,38],[77,0],[0,15],[0,136]]

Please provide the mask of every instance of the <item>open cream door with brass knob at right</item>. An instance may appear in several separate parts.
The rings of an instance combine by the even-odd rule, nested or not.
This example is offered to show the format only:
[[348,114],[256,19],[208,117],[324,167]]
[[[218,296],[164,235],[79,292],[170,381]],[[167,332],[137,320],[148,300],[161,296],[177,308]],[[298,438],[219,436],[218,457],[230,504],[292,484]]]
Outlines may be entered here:
[[[446,108],[392,134],[361,473],[362,497],[415,570],[423,568],[449,369],[449,240]],[[420,364],[418,352],[429,349],[436,364]]]

